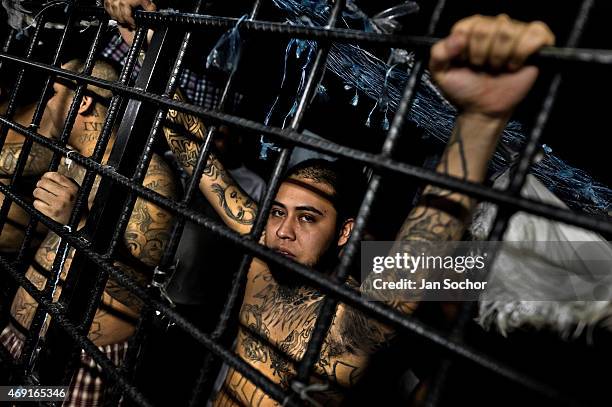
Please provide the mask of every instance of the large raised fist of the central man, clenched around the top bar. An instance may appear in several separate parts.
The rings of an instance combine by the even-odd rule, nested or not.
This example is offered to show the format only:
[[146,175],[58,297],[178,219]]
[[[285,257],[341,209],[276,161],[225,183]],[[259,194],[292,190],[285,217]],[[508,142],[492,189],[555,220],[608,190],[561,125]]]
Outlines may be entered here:
[[504,14],[472,16],[433,46],[429,69],[460,111],[508,119],[538,75],[538,68],[524,62],[554,43],[542,22],[522,23]]

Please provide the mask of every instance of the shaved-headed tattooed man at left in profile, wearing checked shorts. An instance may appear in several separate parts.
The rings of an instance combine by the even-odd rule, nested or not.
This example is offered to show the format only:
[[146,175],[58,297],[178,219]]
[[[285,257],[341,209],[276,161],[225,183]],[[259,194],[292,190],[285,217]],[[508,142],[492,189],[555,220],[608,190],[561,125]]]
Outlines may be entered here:
[[[81,72],[84,65],[81,61],[71,60],[62,65],[63,69]],[[95,63],[92,76],[108,81],[117,80],[116,70],[108,63]],[[57,138],[62,132],[64,121],[75,95],[76,83],[63,78],[56,78],[53,93],[48,100],[39,133]],[[112,96],[111,92],[89,85],[78,106],[78,112],[68,140],[69,147],[85,157],[92,155],[100,137],[107,109]],[[116,139],[113,129],[102,162],[106,162]],[[33,192],[34,208],[54,221],[66,225],[83,181],[85,169],[76,163],[67,165],[62,160],[57,172],[47,172],[36,183]],[[78,228],[87,221],[87,209],[93,204],[100,178],[96,177],[89,195],[85,215]],[[172,172],[163,159],[153,155],[149,163],[143,185],[167,197],[175,197]],[[168,242],[172,228],[172,216],[159,207],[137,199],[128,225],[119,243],[114,266],[132,276],[143,285],[148,283],[152,269],[159,264],[161,255]],[[49,231],[38,248],[33,262],[26,272],[26,277],[39,290],[42,290],[49,277],[56,259],[60,238]],[[70,268],[74,249],[70,249],[62,264],[61,280],[66,278]],[[93,272],[94,270],[82,270]],[[61,286],[54,295],[57,301]],[[0,343],[9,350],[15,359],[19,359],[23,350],[27,330],[38,307],[37,302],[23,289],[19,288],[11,306],[11,323],[0,334]],[[98,346],[109,360],[120,365],[127,351],[128,339],[135,331],[135,324],[142,308],[141,301],[128,290],[120,286],[112,277],[108,280],[102,295],[100,306],[89,329],[88,338]],[[49,319],[43,325],[46,332]],[[80,364],[70,383],[68,399],[64,406],[98,406],[103,403],[105,382],[102,372],[93,359],[84,351],[80,355]]]

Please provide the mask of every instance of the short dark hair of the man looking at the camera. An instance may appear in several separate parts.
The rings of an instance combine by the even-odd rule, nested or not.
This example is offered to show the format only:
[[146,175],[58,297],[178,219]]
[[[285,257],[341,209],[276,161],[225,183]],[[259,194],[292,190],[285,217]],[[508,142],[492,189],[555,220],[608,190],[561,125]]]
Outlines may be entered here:
[[291,167],[285,174],[285,178],[289,177],[309,179],[332,187],[332,203],[339,224],[357,216],[366,184],[361,168],[342,160],[311,158]]

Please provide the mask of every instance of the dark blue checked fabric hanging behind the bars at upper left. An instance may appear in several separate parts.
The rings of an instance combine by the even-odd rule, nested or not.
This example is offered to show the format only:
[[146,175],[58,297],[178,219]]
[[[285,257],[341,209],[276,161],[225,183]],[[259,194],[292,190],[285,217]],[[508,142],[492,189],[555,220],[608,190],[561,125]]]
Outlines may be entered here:
[[[116,61],[123,65],[130,47],[123,41],[118,33],[113,36],[108,45],[102,51],[102,56]],[[140,65],[136,65],[135,73],[140,71]],[[213,110],[219,105],[219,100],[223,94],[223,85],[214,83],[207,79],[205,75],[197,74],[189,68],[183,68],[179,76],[179,86],[189,101],[205,109]],[[242,95],[233,94],[234,106],[238,106],[242,100]]]

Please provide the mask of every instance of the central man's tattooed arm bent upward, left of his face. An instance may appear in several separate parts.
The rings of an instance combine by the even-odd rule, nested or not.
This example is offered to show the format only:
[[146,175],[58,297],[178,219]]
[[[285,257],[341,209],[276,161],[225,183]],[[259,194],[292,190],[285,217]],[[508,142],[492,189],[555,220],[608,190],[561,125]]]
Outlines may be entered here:
[[[174,98],[184,100],[180,92]],[[168,121],[164,127],[168,145],[181,166],[191,175],[206,135],[206,127],[201,119],[174,110],[168,112]],[[208,156],[199,187],[226,225],[241,234],[251,230],[257,215],[257,204],[238,186],[212,152]]]

